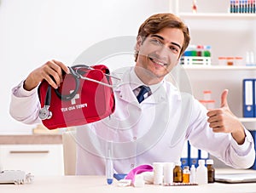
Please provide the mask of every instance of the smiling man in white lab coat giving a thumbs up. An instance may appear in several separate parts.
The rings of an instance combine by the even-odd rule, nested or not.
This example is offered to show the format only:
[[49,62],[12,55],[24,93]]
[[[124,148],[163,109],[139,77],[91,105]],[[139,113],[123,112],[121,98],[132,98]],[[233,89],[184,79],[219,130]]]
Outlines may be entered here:
[[[104,174],[109,149],[117,173],[128,173],[141,164],[178,162],[186,139],[231,167],[253,165],[252,136],[230,111],[227,90],[221,107],[207,111],[190,94],[179,93],[166,82],[189,39],[187,26],[173,14],[154,14],[144,21],[137,35],[136,65],[123,73],[122,83],[114,88],[113,115],[77,128],[78,174]],[[10,114],[20,122],[41,122],[38,84],[45,79],[58,88],[61,70],[68,73],[66,65],[50,60],[32,71],[13,88]],[[143,96],[141,90],[146,91]]]

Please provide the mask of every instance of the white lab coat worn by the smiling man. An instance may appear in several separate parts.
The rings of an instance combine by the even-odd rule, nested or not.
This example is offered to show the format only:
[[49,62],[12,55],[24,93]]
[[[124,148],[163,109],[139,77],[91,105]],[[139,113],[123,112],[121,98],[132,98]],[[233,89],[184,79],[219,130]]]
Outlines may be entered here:
[[[109,141],[117,173],[128,173],[141,164],[178,162],[186,139],[229,166],[252,166],[254,145],[246,129],[243,145],[237,145],[230,133],[213,133],[207,110],[190,94],[179,93],[171,82],[161,82],[138,104],[132,90],[134,81],[140,82],[132,77],[134,74],[133,68],[125,71],[122,83],[114,89],[113,115],[77,128],[77,174],[105,173]],[[40,122],[36,89],[26,92],[21,85],[13,89],[10,114],[21,122]]]

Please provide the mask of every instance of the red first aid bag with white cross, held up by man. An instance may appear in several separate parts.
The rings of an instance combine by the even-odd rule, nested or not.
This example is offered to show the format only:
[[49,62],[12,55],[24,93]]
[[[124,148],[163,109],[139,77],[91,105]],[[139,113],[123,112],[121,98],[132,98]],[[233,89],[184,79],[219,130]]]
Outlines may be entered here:
[[74,65],[59,88],[46,81],[38,87],[39,117],[46,128],[67,128],[96,122],[115,108],[113,86],[105,65]]

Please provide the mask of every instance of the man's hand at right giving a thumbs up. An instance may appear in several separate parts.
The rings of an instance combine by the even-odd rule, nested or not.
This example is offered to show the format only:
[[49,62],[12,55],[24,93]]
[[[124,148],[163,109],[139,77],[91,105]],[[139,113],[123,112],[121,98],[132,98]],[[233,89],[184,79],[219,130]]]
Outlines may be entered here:
[[230,111],[228,93],[225,89],[221,94],[221,105],[218,109],[207,112],[210,128],[216,133],[231,133],[236,142],[241,145],[245,140],[245,132],[238,118]]

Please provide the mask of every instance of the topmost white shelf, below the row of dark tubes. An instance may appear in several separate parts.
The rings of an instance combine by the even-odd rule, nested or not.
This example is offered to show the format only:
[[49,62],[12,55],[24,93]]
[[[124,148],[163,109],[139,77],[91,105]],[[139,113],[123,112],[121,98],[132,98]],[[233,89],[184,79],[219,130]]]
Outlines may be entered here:
[[180,13],[179,16],[183,19],[229,19],[229,20],[256,20],[256,14],[192,14],[192,13]]

